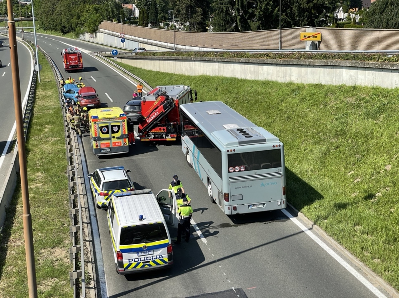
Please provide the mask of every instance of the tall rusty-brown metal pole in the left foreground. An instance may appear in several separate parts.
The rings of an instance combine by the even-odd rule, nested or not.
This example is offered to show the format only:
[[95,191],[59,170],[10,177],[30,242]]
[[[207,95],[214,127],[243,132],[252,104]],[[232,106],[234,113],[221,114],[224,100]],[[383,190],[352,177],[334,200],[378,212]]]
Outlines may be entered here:
[[14,91],[15,122],[17,127],[18,155],[20,162],[22,204],[24,209],[22,220],[24,222],[26,270],[28,273],[29,297],[37,298],[38,289],[36,284],[36,267],[35,267],[35,255],[33,247],[32,215],[30,214],[30,206],[29,206],[28,174],[26,173],[26,152],[25,152],[24,126],[23,126],[24,123],[22,119],[17,36],[15,31],[16,27],[15,27],[14,15],[12,11],[13,10],[12,0],[7,0],[7,6],[8,6],[8,28],[9,28],[8,36],[10,41],[12,87]]

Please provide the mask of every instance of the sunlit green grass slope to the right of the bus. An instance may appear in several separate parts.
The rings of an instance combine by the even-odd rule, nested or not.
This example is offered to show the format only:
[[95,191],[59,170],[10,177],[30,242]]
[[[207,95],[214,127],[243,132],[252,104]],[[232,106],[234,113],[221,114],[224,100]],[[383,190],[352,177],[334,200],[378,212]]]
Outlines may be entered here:
[[399,290],[399,89],[185,76],[125,67],[151,86],[186,84],[285,145],[287,200]]

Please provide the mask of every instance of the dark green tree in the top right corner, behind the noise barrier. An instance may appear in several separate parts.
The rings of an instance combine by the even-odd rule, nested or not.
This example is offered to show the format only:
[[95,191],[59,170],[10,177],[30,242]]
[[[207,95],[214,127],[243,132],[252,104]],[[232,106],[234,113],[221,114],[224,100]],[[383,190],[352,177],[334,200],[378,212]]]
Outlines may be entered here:
[[378,0],[365,12],[366,28],[399,29],[399,2],[397,0]]

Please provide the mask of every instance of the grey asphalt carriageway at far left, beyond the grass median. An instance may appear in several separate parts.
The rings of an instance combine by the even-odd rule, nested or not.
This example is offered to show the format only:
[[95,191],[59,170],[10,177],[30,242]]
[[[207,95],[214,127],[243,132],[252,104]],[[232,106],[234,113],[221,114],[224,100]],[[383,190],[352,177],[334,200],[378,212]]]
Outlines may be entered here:
[[[3,41],[3,46],[0,47],[0,60],[2,61],[2,67],[0,68],[0,126],[2,128],[0,129],[0,154],[3,155],[7,153],[4,152],[4,149],[6,146],[8,147],[10,144],[9,140],[12,140],[14,136],[11,135],[11,132],[15,123],[15,110],[9,41],[8,37],[3,35],[0,35],[0,39]],[[17,49],[20,72],[21,100],[23,102],[26,93],[28,92],[28,84],[32,71],[32,58],[28,48],[23,43],[18,42]],[[0,167],[1,165],[2,159],[0,159]],[[8,169],[2,171],[7,173]]]

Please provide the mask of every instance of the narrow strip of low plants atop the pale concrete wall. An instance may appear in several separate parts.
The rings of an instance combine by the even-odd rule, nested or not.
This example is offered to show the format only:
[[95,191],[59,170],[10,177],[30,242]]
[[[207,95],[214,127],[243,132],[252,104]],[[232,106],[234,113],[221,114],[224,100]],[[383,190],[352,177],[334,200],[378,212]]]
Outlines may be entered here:
[[245,52],[140,52],[140,56],[163,57],[215,57],[215,58],[250,58],[250,59],[294,59],[294,60],[347,60],[369,62],[399,63],[399,55],[387,53],[245,53]]

